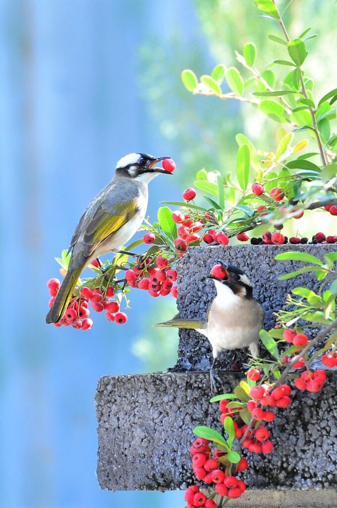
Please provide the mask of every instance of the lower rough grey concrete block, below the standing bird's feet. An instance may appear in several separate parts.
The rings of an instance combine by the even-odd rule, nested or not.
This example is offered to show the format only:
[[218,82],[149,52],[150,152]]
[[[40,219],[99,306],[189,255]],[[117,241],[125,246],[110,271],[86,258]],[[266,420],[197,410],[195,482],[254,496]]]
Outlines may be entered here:
[[[279,489],[337,487],[337,376],[328,376],[322,393],[295,391],[293,403],[279,409],[274,422],[267,424],[275,442],[274,452],[250,454],[244,479],[249,489],[267,489],[265,499],[271,495],[281,499],[281,494],[273,494]],[[241,374],[224,372],[222,377],[224,392],[230,392]],[[211,395],[205,372],[100,378],[96,394],[100,487],[175,490],[194,483],[188,453],[194,438],[192,429],[200,424],[219,431],[222,427],[218,404],[209,403]],[[337,506],[335,492],[328,492],[334,501],[322,506]],[[262,500],[259,506],[267,506]],[[302,505],[310,506],[305,502],[293,506]]]

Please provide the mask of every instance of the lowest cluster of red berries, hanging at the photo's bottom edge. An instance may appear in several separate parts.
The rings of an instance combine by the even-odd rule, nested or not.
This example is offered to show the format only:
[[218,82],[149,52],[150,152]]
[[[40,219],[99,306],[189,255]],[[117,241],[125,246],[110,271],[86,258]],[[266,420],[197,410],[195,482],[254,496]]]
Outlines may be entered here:
[[[199,437],[193,441],[190,448],[192,468],[196,478],[208,485],[214,484],[215,492],[221,497],[227,496],[230,499],[240,497],[246,490],[245,482],[239,480],[233,475],[226,474],[226,468],[220,460],[225,454],[218,448],[215,448],[212,453],[209,444],[210,441],[208,439]],[[235,472],[240,472],[244,471],[247,468],[247,465],[247,460],[242,457],[238,464],[234,465],[233,468],[235,469]],[[186,495],[187,497],[189,496],[187,493],[185,494],[185,499],[189,504],[194,504],[195,506],[207,506],[207,504],[195,504],[194,501],[193,503],[190,503]],[[210,506],[213,505],[210,504]]]

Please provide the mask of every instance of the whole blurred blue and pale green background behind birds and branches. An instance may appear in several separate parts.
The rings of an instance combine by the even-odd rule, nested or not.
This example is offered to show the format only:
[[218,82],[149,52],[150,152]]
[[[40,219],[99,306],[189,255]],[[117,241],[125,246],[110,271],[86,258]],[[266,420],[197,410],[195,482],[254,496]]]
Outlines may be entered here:
[[[284,17],[293,36],[309,26],[319,34],[306,70],[323,94],[337,72],[336,3],[296,0]],[[134,291],[123,327],[95,315],[88,332],[56,329],[44,323],[46,281],[58,276],[54,256],[122,155],[175,159],[170,185],[164,176],[151,183],[154,218],[160,200],[179,198],[200,168],[231,169],[238,132],[275,148],[277,124],[246,105],[193,97],[180,81],[185,68],[201,75],[235,65],[234,50],[248,41],[258,67],[282,58],[268,33],[278,27],[253,0],[0,2],[4,508],[184,505],[181,492],[104,492],[95,478],[97,379],[173,365],[177,335],[152,325],[175,302]]]

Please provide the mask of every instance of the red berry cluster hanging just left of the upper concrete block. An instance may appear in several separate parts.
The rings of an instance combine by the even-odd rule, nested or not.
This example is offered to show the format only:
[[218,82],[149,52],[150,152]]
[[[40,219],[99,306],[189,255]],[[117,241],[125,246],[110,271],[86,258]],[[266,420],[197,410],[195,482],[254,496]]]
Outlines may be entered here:
[[153,297],[178,296],[177,270],[170,268],[168,260],[159,256],[153,264],[150,258],[138,261],[133,268],[126,270],[125,278],[131,288],[147,290]]

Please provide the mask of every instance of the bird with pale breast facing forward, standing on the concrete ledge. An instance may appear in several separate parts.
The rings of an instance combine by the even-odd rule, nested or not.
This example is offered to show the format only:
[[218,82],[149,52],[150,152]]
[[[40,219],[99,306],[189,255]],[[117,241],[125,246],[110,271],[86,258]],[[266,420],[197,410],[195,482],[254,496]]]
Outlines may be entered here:
[[259,332],[262,329],[264,311],[253,298],[253,286],[248,275],[238,266],[217,260],[226,273],[225,278],[204,275],[203,279],[214,280],[216,296],[207,312],[207,320],[182,319],[177,314],[171,321],[156,326],[194,329],[207,337],[212,346],[213,363],[210,369],[210,382],[213,391],[217,390],[215,373],[216,361],[223,350],[248,347],[252,356],[259,354]]

